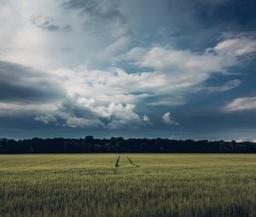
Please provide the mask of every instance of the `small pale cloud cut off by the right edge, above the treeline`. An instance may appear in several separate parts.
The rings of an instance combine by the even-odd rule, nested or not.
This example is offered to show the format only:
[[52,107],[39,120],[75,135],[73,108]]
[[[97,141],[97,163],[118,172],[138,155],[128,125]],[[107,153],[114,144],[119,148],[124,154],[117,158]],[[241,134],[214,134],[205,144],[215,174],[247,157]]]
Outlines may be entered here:
[[256,109],[256,97],[241,97],[224,106],[225,111],[243,111]]

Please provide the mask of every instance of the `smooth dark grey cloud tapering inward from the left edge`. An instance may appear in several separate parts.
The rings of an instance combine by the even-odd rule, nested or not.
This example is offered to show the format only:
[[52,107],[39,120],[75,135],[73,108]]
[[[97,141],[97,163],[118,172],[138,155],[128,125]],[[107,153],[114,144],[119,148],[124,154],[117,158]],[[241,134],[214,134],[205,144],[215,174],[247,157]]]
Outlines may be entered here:
[[0,102],[42,103],[64,91],[49,75],[18,64],[0,61]]

